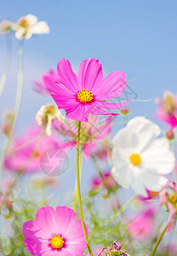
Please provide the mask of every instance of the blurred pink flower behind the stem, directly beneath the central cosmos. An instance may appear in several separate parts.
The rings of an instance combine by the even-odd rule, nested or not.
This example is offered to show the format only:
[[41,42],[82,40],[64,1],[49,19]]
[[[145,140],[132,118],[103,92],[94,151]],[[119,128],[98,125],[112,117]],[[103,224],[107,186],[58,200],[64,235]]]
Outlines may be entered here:
[[[108,116],[102,122],[99,117],[92,115],[88,123],[82,124],[80,143],[83,147],[83,154],[88,160],[96,143],[102,141],[111,132],[112,117]],[[66,137],[65,143],[60,143],[61,148],[75,148],[77,146],[77,122],[68,119],[66,123],[54,120],[54,129]]]

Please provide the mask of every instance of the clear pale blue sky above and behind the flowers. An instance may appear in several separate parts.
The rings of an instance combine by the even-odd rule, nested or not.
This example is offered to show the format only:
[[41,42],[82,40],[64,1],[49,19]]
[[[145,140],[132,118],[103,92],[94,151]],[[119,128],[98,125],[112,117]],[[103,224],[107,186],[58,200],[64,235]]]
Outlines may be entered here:
[[[49,23],[49,35],[25,42],[24,90],[19,125],[34,119],[43,103],[51,102],[31,90],[31,81],[56,67],[61,58],[76,70],[88,57],[100,60],[105,73],[117,69],[127,74],[128,85],[138,100],[131,102],[133,115],[153,116],[154,98],[177,88],[177,2],[175,0],[11,1],[0,3],[0,19],[16,21],[37,15]],[[9,79],[0,108],[13,108],[16,89],[17,42],[13,39]],[[0,37],[0,73],[5,60],[5,40]]]

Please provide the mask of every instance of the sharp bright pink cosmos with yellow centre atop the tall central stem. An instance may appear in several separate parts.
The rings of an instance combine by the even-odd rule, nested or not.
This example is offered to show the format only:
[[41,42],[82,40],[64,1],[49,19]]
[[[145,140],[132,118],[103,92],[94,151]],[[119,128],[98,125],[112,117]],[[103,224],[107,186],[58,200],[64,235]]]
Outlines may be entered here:
[[83,61],[77,75],[72,71],[71,63],[62,59],[57,73],[59,79],[49,76],[45,80],[53,91],[54,102],[58,108],[66,110],[66,117],[70,119],[88,122],[89,114],[117,115],[110,110],[123,108],[129,102],[106,102],[125,90],[125,73],[118,70],[103,79],[101,64],[94,58]]

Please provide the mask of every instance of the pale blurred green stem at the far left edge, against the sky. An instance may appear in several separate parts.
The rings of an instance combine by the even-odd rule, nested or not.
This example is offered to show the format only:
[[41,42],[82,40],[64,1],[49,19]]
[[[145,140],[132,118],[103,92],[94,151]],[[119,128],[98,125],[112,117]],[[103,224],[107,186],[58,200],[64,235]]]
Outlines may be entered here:
[[12,51],[11,38],[10,38],[9,33],[6,35],[6,45],[7,45],[6,46],[6,49],[7,49],[6,60],[5,60],[4,68],[3,68],[3,74],[0,79],[0,96],[2,96],[3,88],[4,88],[4,85],[5,85],[7,76],[8,76],[8,72],[9,72],[9,64],[10,64],[11,51]]

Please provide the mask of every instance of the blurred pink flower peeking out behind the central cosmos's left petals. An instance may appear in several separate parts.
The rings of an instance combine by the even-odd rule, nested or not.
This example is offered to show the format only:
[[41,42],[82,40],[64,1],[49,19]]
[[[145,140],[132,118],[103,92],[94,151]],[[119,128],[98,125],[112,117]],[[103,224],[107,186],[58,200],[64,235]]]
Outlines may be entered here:
[[52,90],[50,90],[48,84],[45,82],[45,78],[47,76],[54,79],[55,81],[57,81],[57,79],[59,80],[57,73],[54,70],[49,70],[49,73],[43,73],[41,75],[40,82],[34,81],[33,84],[35,84],[35,86],[33,87],[33,90],[37,91],[37,93],[43,96],[49,96],[52,93]]

